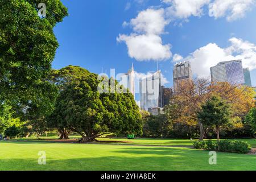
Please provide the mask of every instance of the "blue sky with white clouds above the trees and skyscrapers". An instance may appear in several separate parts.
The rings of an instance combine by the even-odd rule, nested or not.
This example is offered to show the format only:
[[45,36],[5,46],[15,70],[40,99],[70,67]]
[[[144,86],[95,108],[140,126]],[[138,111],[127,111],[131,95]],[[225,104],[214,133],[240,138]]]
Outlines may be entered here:
[[[201,3],[201,6],[188,5],[192,8],[180,5],[179,1],[62,0],[68,7],[69,16],[54,29],[60,46],[53,61],[53,68],[79,65],[94,73],[101,73],[102,67],[108,74],[111,68],[114,68],[116,73],[126,73],[134,63],[135,71],[138,73],[156,71],[156,59],[138,59],[138,56],[150,58],[154,56],[154,51],[150,55],[147,53],[151,51],[147,50],[143,55],[138,55],[138,52],[129,55],[128,50],[136,47],[136,43],[127,47],[127,39],[117,41],[119,35],[125,35],[128,39],[131,38],[131,34],[147,35],[147,27],[142,27],[141,31],[136,31],[134,27],[141,25],[141,19],[136,19],[137,16],[150,9],[151,13],[163,13],[160,14],[165,22],[162,30],[154,30],[151,33],[162,41],[162,46],[169,46],[167,52],[172,55],[167,54],[165,59],[158,59],[159,69],[168,81],[166,86],[173,85],[172,67],[175,54],[182,56],[182,60],[192,61],[197,76],[206,76],[209,65],[223,61],[222,59],[245,57],[245,67],[250,65],[251,80],[256,86],[256,9],[253,5],[255,1],[245,0],[241,5],[236,5],[236,1],[228,0],[230,5],[223,5],[222,9],[220,0],[194,0]],[[188,0],[183,0],[185,1]],[[212,16],[208,15],[210,3],[213,7],[218,7],[213,8]],[[243,9],[234,13],[237,7]],[[191,9],[192,12],[187,11]],[[151,21],[147,23],[158,27],[160,21],[154,25],[156,20],[159,20],[158,16],[152,18],[156,19],[147,19],[146,21]],[[131,23],[131,19],[135,19],[135,23]],[[123,26],[123,22],[127,22],[126,26]]]

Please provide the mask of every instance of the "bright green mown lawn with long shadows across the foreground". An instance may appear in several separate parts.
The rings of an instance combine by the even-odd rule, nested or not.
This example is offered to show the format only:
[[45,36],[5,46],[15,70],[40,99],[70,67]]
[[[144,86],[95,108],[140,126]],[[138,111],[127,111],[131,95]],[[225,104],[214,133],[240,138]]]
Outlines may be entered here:
[[[178,141],[177,143],[186,143]],[[150,143],[168,142],[170,140],[151,140]],[[9,141],[0,142],[0,151],[0,170],[256,169],[256,155],[218,152],[217,165],[212,166],[208,163],[208,151],[178,147]],[[46,151],[46,165],[38,164],[39,151]]]

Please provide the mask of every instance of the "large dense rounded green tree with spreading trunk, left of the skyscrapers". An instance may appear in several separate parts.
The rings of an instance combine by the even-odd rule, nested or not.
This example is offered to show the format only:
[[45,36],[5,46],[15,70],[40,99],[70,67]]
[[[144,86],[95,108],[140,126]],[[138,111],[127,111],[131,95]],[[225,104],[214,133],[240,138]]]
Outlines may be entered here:
[[[51,121],[79,133],[86,141],[112,132],[142,133],[141,114],[131,93],[100,94],[98,75],[73,68],[75,79],[63,85]],[[83,71],[82,75],[77,69]]]

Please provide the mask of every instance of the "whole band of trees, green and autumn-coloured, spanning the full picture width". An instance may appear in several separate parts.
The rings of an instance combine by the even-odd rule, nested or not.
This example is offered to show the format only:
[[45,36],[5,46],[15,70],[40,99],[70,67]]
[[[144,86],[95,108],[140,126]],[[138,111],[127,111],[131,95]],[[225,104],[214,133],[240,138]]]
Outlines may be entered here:
[[[84,141],[108,133],[200,139],[213,132],[220,138],[222,131],[255,134],[253,89],[196,79],[179,86],[164,114],[139,112],[131,93],[97,92],[105,78],[80,67],[51,69],[58,47],[53,27],[68,15],[59,0],[44,1],[45,17],[38,16],[39,0],[0,3],[0,133],[39,137],[57,130],[61,139],[75,132]],[[107,86],[113,82],[118,84],[109,78]]]

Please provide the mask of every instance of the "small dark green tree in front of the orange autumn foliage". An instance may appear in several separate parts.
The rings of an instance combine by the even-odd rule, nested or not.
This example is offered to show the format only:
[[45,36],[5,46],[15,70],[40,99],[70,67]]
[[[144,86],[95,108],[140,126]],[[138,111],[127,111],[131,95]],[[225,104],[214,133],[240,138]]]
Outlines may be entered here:
[[230,121],[231,115],[230,105],[217,96],[210,98],[197,113],[199,121],[214,127],[218,140],[220,140],[220,128]]

